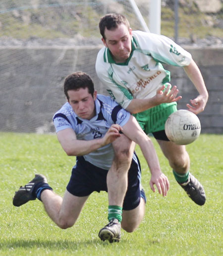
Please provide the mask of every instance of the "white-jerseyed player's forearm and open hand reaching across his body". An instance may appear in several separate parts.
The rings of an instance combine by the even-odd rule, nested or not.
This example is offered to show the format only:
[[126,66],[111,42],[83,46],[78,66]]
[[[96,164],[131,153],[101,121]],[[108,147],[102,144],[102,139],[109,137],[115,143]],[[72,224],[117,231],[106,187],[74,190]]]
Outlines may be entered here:
[[170,103],[180,100],[182,96],[177,96],[179,92],[177,87],[174,85],[171,90],[170,87],[170,84],[166,89],[165,85],[160,86],[157,90],[157,94],[149,99],[132,99],[126,110],[132,114],[136,114],[162,103]]

